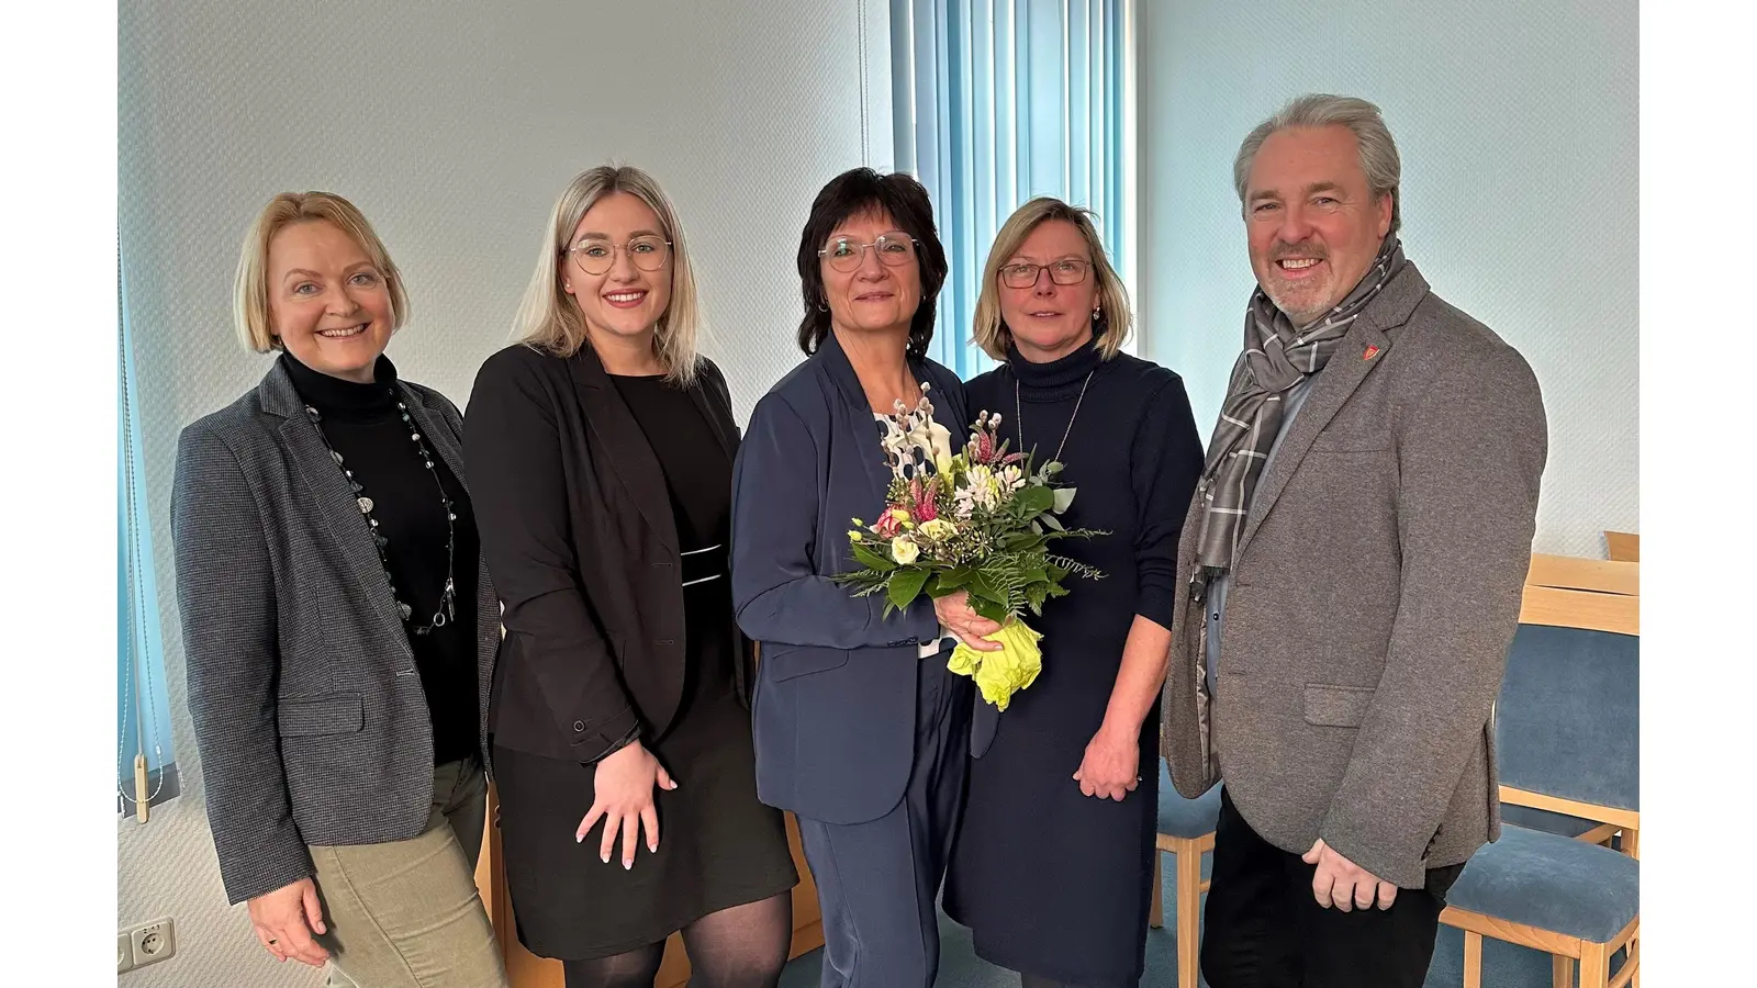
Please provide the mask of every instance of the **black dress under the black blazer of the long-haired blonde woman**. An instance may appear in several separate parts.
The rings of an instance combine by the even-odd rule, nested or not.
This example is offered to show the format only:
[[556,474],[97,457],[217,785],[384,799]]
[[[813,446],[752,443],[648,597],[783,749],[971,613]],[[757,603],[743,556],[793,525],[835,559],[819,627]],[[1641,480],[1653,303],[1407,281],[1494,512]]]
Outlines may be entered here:
[[641,744],[676,781],[655,789],[659,851],[622,835],[597,858],[603,825],[576,844],[594,765],[494,749],[506,879],[518,941],[539,956],[592,960],[655,944],[720,909],[791,890],[799,875],[780,810],[757,802],[750,712],[738,701],[731,541],[733,464],[689,394],[662,378],[610,378],[664,469],[683,547],[687,672],[669,731]]

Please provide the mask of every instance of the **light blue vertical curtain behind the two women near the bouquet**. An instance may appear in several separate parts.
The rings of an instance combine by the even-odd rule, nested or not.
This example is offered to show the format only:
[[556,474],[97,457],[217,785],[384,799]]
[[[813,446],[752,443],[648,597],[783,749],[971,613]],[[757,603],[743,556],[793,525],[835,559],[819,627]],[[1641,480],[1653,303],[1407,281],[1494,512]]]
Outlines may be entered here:
[[1132,0],[891,0],[896,169],[933,197],[951,274],[933,359],[970,378],[970,343],[994,234],[1033,195],[1098,214],[1128,271],[1124,23]]

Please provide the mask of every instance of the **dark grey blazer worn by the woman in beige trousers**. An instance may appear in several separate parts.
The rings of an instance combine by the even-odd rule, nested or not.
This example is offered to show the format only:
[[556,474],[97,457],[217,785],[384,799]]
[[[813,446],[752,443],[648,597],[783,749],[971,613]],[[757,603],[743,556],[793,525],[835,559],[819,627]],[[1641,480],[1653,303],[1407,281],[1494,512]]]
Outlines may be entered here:
[[[464,483],[462,417],[402,381]],[[313,874],[311,844],[408,840],[432,805],[415,650],[353,492],[286,369],[177,441],[172,541],[207,821],[234,904]],[[478,705],[501,645],[476,577]]]

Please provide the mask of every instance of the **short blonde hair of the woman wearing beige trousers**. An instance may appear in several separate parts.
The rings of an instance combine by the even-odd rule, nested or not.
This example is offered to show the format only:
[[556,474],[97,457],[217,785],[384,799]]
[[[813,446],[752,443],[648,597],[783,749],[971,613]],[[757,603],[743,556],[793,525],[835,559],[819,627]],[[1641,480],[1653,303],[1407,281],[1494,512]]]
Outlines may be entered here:
[[385,288],[390,292],[392,332],[408,322],[409,297],[402,288],[402,272],[397,271],[390,251],[385,250],[385,243],[372,232],[372,225],[365,222],[360,209],[332,192],[283,192],[257,214],[257,222],[244,234],[244,250],[237,257],[237,278],[232,285],[232,323],[246,350],[257,353],[281,350],[281,338],[274,332],[274,320],[269,315],[269,243],[274,241],[274,234],[293,223],[318,220],[334,223],[358,244],[385,278]]

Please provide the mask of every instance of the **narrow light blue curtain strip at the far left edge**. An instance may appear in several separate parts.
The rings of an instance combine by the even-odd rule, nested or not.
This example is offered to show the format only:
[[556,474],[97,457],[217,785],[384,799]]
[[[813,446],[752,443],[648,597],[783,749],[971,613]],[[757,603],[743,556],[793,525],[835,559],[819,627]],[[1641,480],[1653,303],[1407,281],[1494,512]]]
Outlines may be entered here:
[[[134,336],[128,329],[127,278],[118,264],[119,346],[116,359],[116,779],[134,803],[134,756],[146,744],[155,796],[176,793],[160,782],[170,751],[170,700],[165,691],[165,649],[158,628],[158,580],[153,573],[153,526],[146,513],[146,461],[141,454],[141,387],[135,381]],[[144,716],[144,724],[141,723]]]

